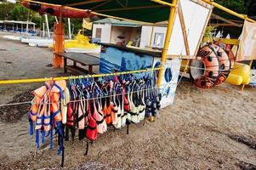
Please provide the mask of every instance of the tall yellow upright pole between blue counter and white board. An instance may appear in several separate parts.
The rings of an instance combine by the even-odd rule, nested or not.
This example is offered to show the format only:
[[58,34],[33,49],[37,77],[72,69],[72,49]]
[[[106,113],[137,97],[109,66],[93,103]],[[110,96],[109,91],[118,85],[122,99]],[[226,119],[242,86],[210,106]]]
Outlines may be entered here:
[[166,36],[165,36],[163,49],[162,49],[161,70],[159,71],[158,88],[161,87],[163,69],[164,69],[164,66],[165,66],[166,56],[167,56],[167,53],[168,53],[169,41],[170,41],[172,31],[173,31],[173,28],[174,28],[174,16],[175,16],[176,8],[177,8],[177,3],[178,3],[178,0],[173,0],[174,7],[170,7],[168,28],[167,28],[167,32],[166,32]]

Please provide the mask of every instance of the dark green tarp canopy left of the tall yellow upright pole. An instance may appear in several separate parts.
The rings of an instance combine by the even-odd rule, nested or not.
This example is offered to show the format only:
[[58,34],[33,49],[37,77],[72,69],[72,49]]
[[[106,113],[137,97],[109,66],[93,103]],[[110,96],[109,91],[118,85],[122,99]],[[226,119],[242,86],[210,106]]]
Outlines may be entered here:
[[[172,3],[171,0],[162,0]],[[170,8],[151,0],[39,0],[34,3],[59,4],[72,8],[90,9],[96,13],[108,14],[129,20],[155,23],[168,20]]]

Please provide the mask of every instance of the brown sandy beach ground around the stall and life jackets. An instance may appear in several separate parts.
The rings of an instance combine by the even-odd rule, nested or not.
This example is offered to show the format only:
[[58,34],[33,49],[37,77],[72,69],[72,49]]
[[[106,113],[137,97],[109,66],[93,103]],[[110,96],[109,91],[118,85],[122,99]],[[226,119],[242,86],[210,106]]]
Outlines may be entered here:
[[[48,48],[32,48],[0,36],[0,49],[6,49],[0,52],[0,79],[62,75],[62,70],[46,66],[52,59]],[[0,85],[0,103],[38,86]],[[256,140],[255,92],[256,88],[241,92],[226,83],[205,90],[180,82],[174,105],[159,111],[156,122],[133,124],[129,134],[126,128],[109,130],[90,146],[88,156],[83,156],[85,141],[65,142],[64,169],[87,169],[84,165],[92,162],[105,165],[102,169],[240,169],[239,161],[256,165],[256,150],[228,137]],[[0,169],[60,169],[57,146],[48,150],[47,142],[35,151],[26,113],[18,122],[1,122]]]

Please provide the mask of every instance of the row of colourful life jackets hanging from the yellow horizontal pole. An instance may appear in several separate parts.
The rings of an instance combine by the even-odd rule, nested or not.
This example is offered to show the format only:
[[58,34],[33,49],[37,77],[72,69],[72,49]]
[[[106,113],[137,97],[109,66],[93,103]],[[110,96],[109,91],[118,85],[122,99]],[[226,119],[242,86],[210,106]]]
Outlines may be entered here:
[[[149,77],[133,80],[94,82],[88,79],[45,82],[32,92],[34,99],[29,113],[30,133],[50,137],[59,135],[58,154],[64,148],[63,139],[74,139],[78,129],[79,139],[97,139],[97,133],[105,133],[107,125],[122,128],[129,123],[139,123],[146,117],[156,116],[160,109],[161,95]],[[64,133],[65,132],[65,133]]]

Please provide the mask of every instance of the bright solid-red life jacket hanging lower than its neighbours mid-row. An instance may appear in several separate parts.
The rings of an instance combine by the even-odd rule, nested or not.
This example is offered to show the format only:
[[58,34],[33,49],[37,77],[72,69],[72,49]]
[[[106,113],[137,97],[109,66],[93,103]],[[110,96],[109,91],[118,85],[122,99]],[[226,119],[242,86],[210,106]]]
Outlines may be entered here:
[[91,140],[94,141],[95,139],[97,139],[97,122],[96,122],[96,118],[94,114],[94,104],[93,101],[90,100],[89,101],[89,105],[88,105],[88,126],[86,129],[86,137]]

